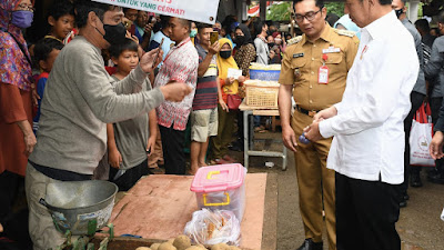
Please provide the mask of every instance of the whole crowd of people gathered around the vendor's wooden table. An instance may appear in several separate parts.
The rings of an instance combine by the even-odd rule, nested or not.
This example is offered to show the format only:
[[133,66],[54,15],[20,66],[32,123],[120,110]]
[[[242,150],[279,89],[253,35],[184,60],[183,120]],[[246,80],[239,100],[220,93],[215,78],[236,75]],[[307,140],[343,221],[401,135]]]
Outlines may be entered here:
[[[302,36],[292,39],[259,19],[195,23],[56,0],[48,33],[30,44],[23,30],[41,10],[30,0],[3,0],[0,233],[17,219],[19,187],[33,248],[47,249],[63,242],[39,203],[48,183],[102,179],[127,191],[162,169],[194,174],[235,162],[228,151],[243,148],[235,100],[258,62],[282,64],[282,137],[294,151],[305,229],[299,250],[322,249],[323,218],[329,249],[400,249],[400,207],[408,183],[422,186],[421,168],[410,166],[408,134],[425,99],[436,130],[428,180],[444,183],[444,42],[427,20],[408,21],[405,1],[369,1],[347,0],[347,14],[335,18],[322,0],[295,0]],[[263,123],[255,117],[255,131]],[[310,144],[296,140],[303,133]]]

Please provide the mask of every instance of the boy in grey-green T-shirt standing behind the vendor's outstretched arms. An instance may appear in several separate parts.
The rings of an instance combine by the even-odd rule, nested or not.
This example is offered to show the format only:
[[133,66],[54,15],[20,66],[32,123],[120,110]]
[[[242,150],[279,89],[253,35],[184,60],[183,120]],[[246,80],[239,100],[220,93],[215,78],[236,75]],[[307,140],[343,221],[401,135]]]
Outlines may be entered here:
[[[115,81],[122,80],[138,67],[138,47],[137,42],[127,39],[123,44],[110,48],[111,60],[117,67],[117,72],[112,76]],[[151,90],[149,78],[141,89],[134,89],[133,92],[148,90]],[[112,167],[110,181],[114,182],[119,190],[129,190],[142,176],[149,174],[148,157],[154,150],[157,124],[155,110],[130,120],[107,124],[108,160]]]

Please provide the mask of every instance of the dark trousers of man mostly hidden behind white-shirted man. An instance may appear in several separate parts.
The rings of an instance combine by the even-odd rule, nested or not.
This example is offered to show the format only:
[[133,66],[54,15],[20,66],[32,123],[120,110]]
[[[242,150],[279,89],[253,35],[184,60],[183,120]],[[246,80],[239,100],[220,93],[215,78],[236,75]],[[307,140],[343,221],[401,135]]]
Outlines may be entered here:
[[425,94],[412,91],[410,94],[410,101],[412,103],[412,109],[410,110],[407,117],[404,120],[404,132],[405,132],[405,150],[404,150],[404,182],[401,184],[401,191],[402,193],[400,196],[403,196],[405,192],[407,192],[408,188],[408,176],[410,171],[420,171],[418,167],[410,167],[410,131],[412,129],[412,123],[413,123],[413,117],[416,113],[416,110],[421,107],[425,98]]

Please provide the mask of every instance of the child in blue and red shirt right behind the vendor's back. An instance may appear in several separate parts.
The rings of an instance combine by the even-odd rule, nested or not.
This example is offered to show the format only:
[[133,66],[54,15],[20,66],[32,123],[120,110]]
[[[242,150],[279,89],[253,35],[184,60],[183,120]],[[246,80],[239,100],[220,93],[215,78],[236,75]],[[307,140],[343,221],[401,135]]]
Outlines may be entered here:
[[36,44],[34,48],[34,59],[41,71],[41,73],[37,78],[37,93],[39,94],[40,99],[38,100],[39,106],[37,114],[33,118],[33,126],[32,126],[32,129],[36,134],[37,131],[39,130],[40,106],[43,99],[43,90],[47,84],[48,76],[51,72],[52,64],[54,63],[56,58],[62,48],[63,43],[50,38],[41,39]]

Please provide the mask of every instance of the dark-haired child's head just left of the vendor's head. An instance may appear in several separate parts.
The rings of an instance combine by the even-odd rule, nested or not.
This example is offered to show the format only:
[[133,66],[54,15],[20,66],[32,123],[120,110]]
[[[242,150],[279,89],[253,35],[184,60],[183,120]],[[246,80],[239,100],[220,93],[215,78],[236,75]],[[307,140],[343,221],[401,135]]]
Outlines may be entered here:
[[44,38],[58,40],[61,43],[69,40],[74,28],[74,7],[70,0],[57,0],[48,13],[50,31]]

